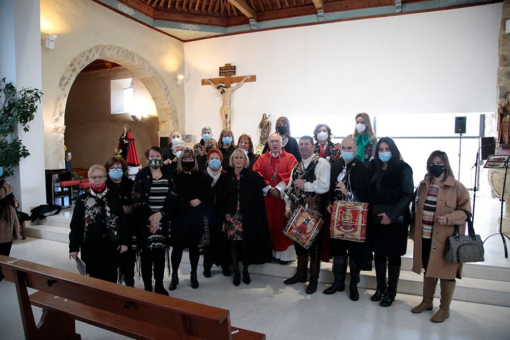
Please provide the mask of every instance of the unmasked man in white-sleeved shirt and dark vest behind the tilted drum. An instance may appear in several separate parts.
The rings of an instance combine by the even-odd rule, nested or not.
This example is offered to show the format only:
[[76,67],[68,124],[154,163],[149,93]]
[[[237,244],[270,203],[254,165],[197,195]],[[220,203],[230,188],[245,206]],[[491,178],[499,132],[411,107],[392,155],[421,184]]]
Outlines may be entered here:
[[[287,218],[291,216],[298,205],[319,212],[323,194],[329,191],[330,165],[325,159],[317,156],[314,151],[313,137],[303,136],[299,139],[299,153],[302,161],[292,170],[289,184],[285,189],[285,216]],[[320,236],[315,238],[308,250],[294,242],[297,254],[297,271],[294,276],[284,281],[285,284],[307,281],[308,256],[310,255],[310,283],[307,287],[307,294],[315,293],[320,271],[320,244]]]

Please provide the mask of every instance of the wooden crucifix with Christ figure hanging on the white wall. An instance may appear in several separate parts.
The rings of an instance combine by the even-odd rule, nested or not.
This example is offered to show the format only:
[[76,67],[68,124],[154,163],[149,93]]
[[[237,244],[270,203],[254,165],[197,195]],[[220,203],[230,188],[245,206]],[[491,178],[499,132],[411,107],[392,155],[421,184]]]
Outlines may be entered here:
[[[220,108],[223,128],[230,129],[232,92],[240,88],[245,82],[256,82],[256,76],[232,76],[236,74],[236,67],[231,66],[231,64],[225,64],[224,67],[220,67],[219,73],[220,78],[202,79],[202,85],[214,86],[214,88],[219,91],[221,98],[223,99],[223,104]],[[237,83],[237,85],[231,87],[232,83]]]

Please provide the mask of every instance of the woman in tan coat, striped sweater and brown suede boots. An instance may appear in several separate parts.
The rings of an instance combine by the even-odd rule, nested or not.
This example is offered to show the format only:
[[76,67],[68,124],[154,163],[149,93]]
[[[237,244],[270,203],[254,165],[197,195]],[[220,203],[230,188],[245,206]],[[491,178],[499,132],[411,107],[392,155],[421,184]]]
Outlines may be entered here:
[[441,300],[439,311],[430,321],[443,322],[450,316],[450,302],[455,290],[455,278],[462,276],[462,264],[445,261],[446,240],[458,224],[464,234],[468,212],[471,215],[469,193],[453,178],[448,156],[434,151],[427,160],[427,174],[418,186],[414,204],[415,219],[410,235],[414,241],[413,272],[423,274],[423,301],[411,311],[421,313],[432,309],[438,279]]

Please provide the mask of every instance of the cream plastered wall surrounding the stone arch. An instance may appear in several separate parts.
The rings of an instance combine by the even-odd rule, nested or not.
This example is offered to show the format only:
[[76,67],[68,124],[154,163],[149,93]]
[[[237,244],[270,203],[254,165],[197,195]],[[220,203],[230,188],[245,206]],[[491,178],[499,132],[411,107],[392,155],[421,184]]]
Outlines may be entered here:
[[[55,103],[60,95],[59,83],[66,67],[75,57],[96,45],[120,46],[148,61],[169,89],[179,124],[184,128],[184,87],[176,86],[173,82],[177,74],[184,73],[182,42],[90,0],[41,0],[41,31],[58,36],[55,49],[42,48],[46,141],[52,140],[49,125],[52,124]],[[48,143],[45,149],[46,168],[54,165],[53,160],[48,159],[51,148],[52,145]]]

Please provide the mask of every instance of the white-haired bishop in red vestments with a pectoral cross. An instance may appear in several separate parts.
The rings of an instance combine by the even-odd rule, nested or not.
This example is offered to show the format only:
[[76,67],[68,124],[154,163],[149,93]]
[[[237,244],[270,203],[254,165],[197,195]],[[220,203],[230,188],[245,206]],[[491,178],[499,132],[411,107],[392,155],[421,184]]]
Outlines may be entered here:
[[294,242],[282,231],[287,223],[284,190],[297,161],[292,153],[282,148],[282,136],[272,134],[267,143],[269,148],[255,162],[253,171],[258,172],[267,184],[263,191],[273,256],[280,261],[293,261],[296,259]]

